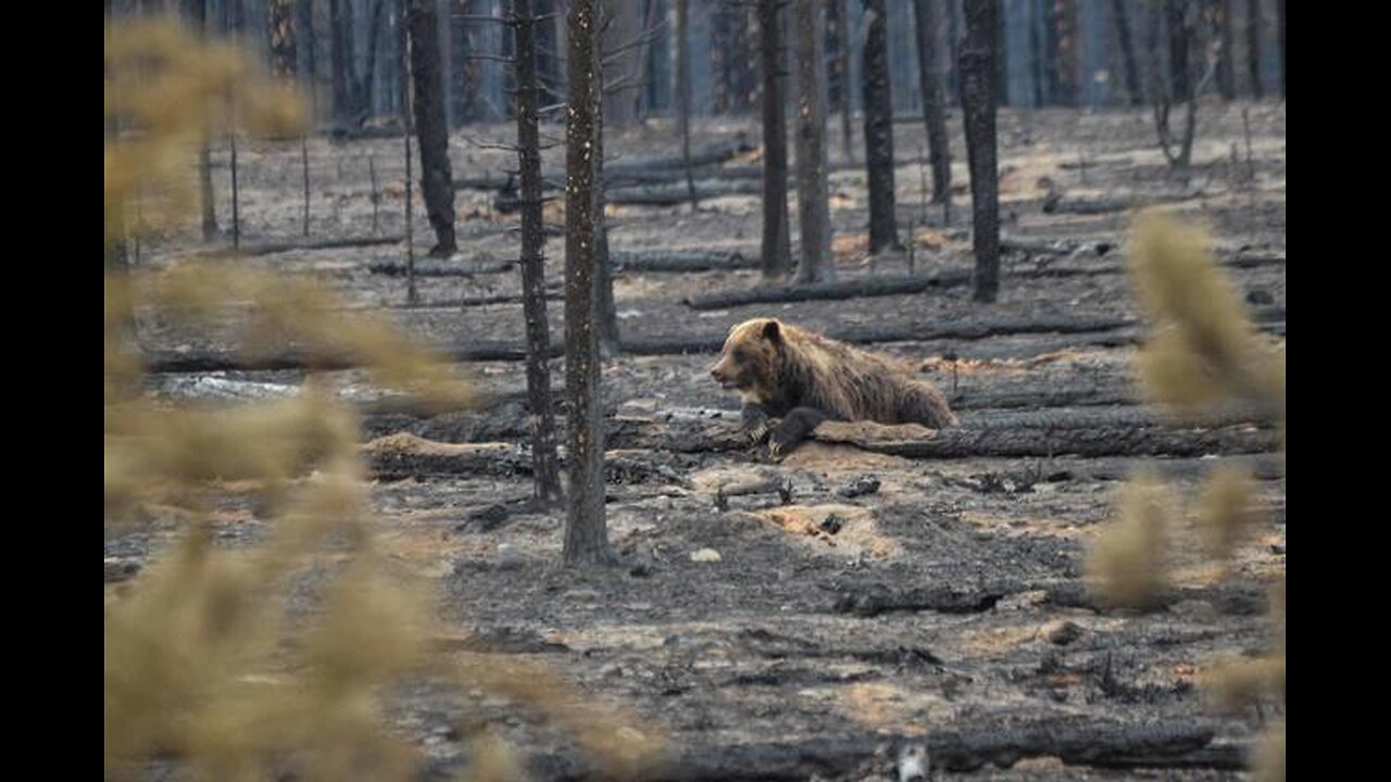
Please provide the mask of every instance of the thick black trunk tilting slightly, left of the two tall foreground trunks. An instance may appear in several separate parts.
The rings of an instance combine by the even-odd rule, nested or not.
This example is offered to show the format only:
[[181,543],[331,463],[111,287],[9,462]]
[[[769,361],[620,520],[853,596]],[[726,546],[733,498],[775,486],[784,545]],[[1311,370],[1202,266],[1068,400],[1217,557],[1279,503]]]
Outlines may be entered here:
[[440,31],[434,0],[409,0],[410,78],[416,134],[420,142],[420,195],[435,232],[433,257],[459,252],[453,237],[453,184],[449,175],[449,129],[445,127],[444,74],[440,71]]

